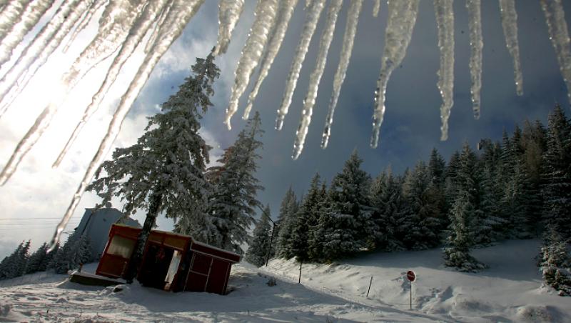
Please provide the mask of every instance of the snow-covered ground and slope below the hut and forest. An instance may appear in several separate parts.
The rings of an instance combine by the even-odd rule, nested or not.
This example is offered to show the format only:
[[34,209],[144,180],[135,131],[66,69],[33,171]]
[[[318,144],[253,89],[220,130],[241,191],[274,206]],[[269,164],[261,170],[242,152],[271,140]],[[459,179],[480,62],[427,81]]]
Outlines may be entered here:
[[[477,249],[475,257],[490,266],[478,274],[443,267],[439,249],[303,264],[301,284],[293,260],[275,259],[261,269],[238,264],[226,296],[138,284],[113,292],[67,282],[65,275],[26,275],[0,282],[0,322],[571,322],[571,297],[541,286],[534,259],[539,244]],[[417,275],[412,310],[410,269]],[[272,276],[277,285],[270,287]]]

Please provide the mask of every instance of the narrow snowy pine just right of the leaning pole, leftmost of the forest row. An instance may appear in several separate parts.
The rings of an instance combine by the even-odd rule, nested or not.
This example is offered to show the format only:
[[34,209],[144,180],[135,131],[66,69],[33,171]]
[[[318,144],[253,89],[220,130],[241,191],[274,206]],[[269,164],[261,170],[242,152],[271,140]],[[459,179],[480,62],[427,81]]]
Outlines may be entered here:
[[291,252],[291,244],[293,243],[291,240],[291,230],[297,212],[298,201],[295,198],[295,192],[293,192],[293,189],[290,187],[288,192],[285,193],[285,197],[283,197],[278,221],[276,221],[276,227],[278,229],[276,254],[278,257],[285,259],[293,257],[293,253]]

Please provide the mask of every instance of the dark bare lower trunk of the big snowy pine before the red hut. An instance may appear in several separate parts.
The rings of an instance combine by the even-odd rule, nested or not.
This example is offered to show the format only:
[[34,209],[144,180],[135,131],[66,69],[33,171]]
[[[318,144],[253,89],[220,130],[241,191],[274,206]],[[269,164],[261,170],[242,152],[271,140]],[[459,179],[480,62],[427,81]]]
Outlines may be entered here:
[[138,267],[143,259],[143,250],[145,244],[147,243],[148,234],[151,233],[151,229],[155,226],[156,217],[158,216],[158,209],[161,204],[162,194],[153,192],[151,194],[150,204],[148,206],[147,216],[145,218],[145,224],[143,224],[143,230],[138,234],[137,242],[135,248],[133,249],[133,254],[131,254],[131,259],[129,259],[129,264],[125,272],[124,278],[128,284],[133,282],[133,279],[137,276]]

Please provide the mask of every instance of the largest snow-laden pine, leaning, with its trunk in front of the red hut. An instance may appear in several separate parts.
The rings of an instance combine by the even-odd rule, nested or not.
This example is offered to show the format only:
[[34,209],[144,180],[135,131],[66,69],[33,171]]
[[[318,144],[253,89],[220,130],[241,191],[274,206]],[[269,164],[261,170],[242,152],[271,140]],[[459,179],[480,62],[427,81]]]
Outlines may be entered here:
[[175,219],[179,231],[196,234],[196,239],[212,229],[206,217],[208,184],[204,177],[210,146],[198,134],[198,119],[212,106],[209,97],[219,75],[213,60],[212,54],[196,59],[192,66],[195,76],[187,77],[178,92],[162,104],[162,113],[148,118],[145,133],[136,144],[116,149],[113,159],[101,164],[96,180],[87,187],[102,197],[101,205],[116,196],[126,201],[126,214],[138,209],[147,212],[126,272],[128,282],[136,275],[143,246],[161,212]]

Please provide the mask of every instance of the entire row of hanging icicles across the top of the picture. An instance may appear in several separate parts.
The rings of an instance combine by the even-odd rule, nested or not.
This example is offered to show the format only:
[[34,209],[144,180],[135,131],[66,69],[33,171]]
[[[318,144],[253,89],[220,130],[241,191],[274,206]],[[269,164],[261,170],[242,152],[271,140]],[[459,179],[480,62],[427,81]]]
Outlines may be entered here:
[[[240,18],[244,0],[219,0],[219,31],[218,44],[213,51],[215,55],[226,52],[231,34]],[[385,46],[381,56],[380,76],[375,91],[373,111],[373,134],[370,145],[376,147],[379,141],[380,126],[385,112],[385,91],[396,66],[403,61],[408,44],[413,34],[418,4],[420,0],[388,0],[388,21],[385,29]],[[482,22],[480,14],[481,0],[465,0],[469,14],[470,29],[470,74],[472,80],[471,93],[475,118],[480,116],[480,87],[482,75]],[[517,41],[517,13],[515,0],[498,0],[501,11],[502,29],[505,35],[507,49],[513,58],[515,85],[517,94],[522,94],[522,72],[520,69],[520,54]],[[84,108],[84,114],[72,132],[70,139],[61,154],[54,162],[57,167],[64,158],[70,146],[82,127],[94,114],[108,89],[114,84],[123,65],[131,58],[139,45],[144,46],[144,59],[138,65],[138,71],[131,79],[128,88],[121,96],[113,119],[108,125],[106,135],[86,169],[84,178],[74,194],[66,210],[64,218],[56,229],[52,245],[55,244],[64,230],[81,195],[94,176],[94,172],[111,147],[118,131],[121,129],[131,104],[146,83],[151,71],[158,60],[171,46],[173,41],[183,31],[188,21],[196,14],[204,0],[0,0],[0,65],[5,64],[14,53],[17,46],[23,46],[19,56],[0,79],[0,117],[11,102],[26,87],[36,71],[50,58],[60,46],[64,51],[74,42],[80,31],[84,30],[98,12],[103,10],[98,19],[98,32],[94,39],[79,54],[61,79],[61,86],[54,91],[51,103],[48,104],[29,131],[16,146],[9,162],[0,173],[0,184],[5,184],[13,174],[21,159],[39,139],[44,130],[67,96],[79,84],[81,79],[101,61],[112,58],[105,79],[101,84],[94,84],[94,94],[91,103]],[[343,34],[343,45],[340,62],[333,80],[333,91],[328,106],[328,114],[323,129],[321,146],[328,145],[333,123],[333,114],[337,105],[345,73],[348,68],[353,40],[357,31],[358,20],[363,0],[330,0],[327,6],[325,26],[318,47],[318,57],[315,67],[310,74],[310,84],[305,100],[300,124],[296,131],[293,159],[297,159],[303,150],[305,136],[310,126],[313,106],[318,94],[319,83],[325,69],[326,59],[335,31],[335,24],[341,7],[348,2],[348,17]],[[251,25],[242,56],[236,68],[236,81],[231,91],[231,99],[226,110],[226,125],[231,127],[231,117],[238,111],[238,101],[248,88],[251,76],[260,65],[258,78],[248,96],[248,103],[243,118],[248,118],[256,100],[263,80],[268,76],[274,59],[283,42],[288,24],[298,0],[258,0],[255,9],[255,19]],[[562,0],[540,0],[545,14],[550,39],[557,54],[560,70],[571,89],[571,47],[567,31]],[[285,115],[293,97],[293,91],[308,52],[310,41],[315,34],[317,23],[325,9],[325,0],[305,1],[305,22],[299,38],[299,44],[291,64],[285,84],[283,99],[278,109],[276,129],[280,130]],[[54,15],[49,22],[32,35],[31,41],[22,44],[22,40],[46,12],[54,8]],[[441,139],[448,137],[448,117],[453,106],[453,66],[454,66],[454,13],[453,0],[434,0],[436,24],[438,26],[438,47],[440,49],[440,69],[438,71],[438,89],[443,99],[440,107]],[[381,1],[375,0],[373,16],[381,9]],[[143,42],[145,42],[143,44]],[[571,96],[570,96],[571,101]]]

